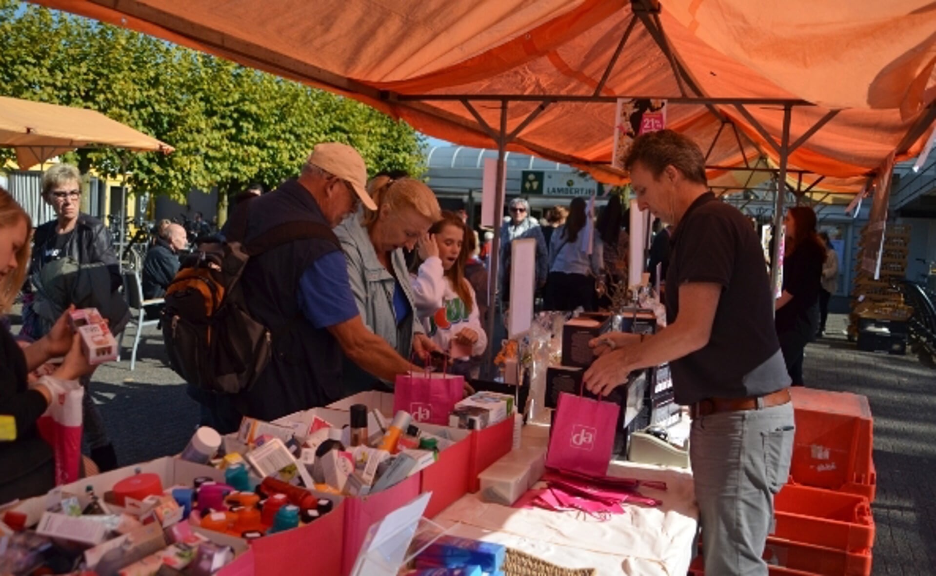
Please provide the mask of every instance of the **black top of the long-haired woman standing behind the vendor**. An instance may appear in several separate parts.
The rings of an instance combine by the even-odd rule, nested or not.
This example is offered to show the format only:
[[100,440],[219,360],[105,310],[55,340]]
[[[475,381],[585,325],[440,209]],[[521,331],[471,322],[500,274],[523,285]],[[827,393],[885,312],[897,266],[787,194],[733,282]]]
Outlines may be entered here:
[[783,258],[783,289],[793,299],[777,310],[775,319],[778,333],[796,329],[797,319],[807,321],[803,326],[811,325],[809,313],[812,306],[819,302],[822,267],[825,263],[826,248],[818,242],[800,244],[792,254]]

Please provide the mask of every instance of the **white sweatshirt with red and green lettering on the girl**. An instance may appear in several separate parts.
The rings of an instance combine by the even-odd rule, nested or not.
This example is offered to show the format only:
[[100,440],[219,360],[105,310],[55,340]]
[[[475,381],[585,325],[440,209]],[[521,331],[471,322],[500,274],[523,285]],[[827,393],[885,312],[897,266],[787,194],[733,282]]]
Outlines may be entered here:
[[[461,302],[458,293],[451,288],[442,268],[442,260],[439,258],[427,259],[419,266],[417,274],[410,274],[410,279],[413,284],[417,317],[432,342],[443,350],[449,351],[455,335],[462,329],[470,328],[477,332],[477,342],[472,347],[471,355],[483,354],[485,348],[488,347],[488,336],[481,327],[474,288],[471,288],[471,285],[465,281],[465,286],[475,302],[471,313],[468,313],[465,303]],[[457,355],[455,358],[464,360],[468,357]]]

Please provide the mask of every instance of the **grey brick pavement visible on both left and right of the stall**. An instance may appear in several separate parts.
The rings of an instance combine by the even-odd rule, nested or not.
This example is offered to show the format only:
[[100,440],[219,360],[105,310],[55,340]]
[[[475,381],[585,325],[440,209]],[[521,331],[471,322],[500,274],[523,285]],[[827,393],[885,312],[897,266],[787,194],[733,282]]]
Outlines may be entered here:
[[[829,335],[807,347],[805,378],[869,397],[878,474],[873,574],[936,574],[936,371],[912,356],[858,351],[843,335],[846,320],[830,317]],[[92,389],[122,465],[182,450],[198,420],[182,379],[164,363],[161,335],[143,333],[136,370],[124,349],[122,362],[97,370]]]

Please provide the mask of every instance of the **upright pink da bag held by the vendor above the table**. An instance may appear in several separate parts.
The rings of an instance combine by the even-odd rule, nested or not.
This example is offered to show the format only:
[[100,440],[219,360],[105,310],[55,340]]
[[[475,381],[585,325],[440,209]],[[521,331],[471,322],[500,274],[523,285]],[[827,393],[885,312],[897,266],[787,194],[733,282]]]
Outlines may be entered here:
[[620,411],[617,404],[561,392],[549,434],[547,467],[604,477]]

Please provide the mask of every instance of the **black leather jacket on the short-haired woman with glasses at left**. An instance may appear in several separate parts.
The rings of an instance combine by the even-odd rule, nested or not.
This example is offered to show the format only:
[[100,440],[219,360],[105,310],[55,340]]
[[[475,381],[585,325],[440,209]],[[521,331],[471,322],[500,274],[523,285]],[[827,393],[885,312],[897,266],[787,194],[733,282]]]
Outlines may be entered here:
[[[46,222],[36,229],[33,235],[33,257],[30,262],[30,275],[42,270],[42,253],[46,244],[54,242],[57,220]],[[120,260],[110,245],[110,234],[104,224],[88,214],[79,214],[75,225],[73,240],[66,245],[66,256],[75,258],[81,264],[104,263],[110,272],[110,291],[118,290],[123,284],[120,275]]]

